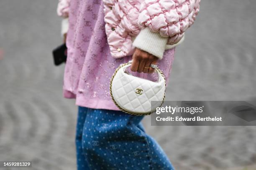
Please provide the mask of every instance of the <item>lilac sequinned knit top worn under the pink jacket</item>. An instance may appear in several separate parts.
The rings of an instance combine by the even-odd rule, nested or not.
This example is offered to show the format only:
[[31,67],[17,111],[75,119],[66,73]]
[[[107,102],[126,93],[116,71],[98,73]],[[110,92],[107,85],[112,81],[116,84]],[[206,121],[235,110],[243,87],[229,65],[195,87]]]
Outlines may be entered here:
[[[83,107],[119,110],[110,97],[110,79],[115,69],[131,60],[131,56],[115,59],[110,55],[101,0],[70,1],[67,47],[64,97],[75,98],[76,105]],[[166,80],[171,71],[174,51],[166,50],[163,59],[158,62]],[[139,76],[152,79],[154,75]]]

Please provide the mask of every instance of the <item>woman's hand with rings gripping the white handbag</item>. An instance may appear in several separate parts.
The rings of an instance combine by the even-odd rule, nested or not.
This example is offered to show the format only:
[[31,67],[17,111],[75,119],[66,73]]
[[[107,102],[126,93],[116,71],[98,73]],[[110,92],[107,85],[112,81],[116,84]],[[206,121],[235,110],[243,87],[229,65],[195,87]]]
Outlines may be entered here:
[[158,60],[158,57],[136,48],[135,52],[133,53],[133,62],[131,65],[131,71],[153,73],[154,68],[150,67],[150,65],[151,64],[156,65],[157,60]]

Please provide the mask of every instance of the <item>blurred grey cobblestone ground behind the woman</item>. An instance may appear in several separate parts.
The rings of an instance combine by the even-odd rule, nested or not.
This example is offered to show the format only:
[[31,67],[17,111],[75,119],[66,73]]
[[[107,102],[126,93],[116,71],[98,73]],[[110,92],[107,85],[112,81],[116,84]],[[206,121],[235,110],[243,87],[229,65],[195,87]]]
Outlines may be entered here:
[[[51,59],[61,42],[56,3],[0,0],[0,160],[32,160],[35,170],[75,169],[77,107],[62,98],[64,65]],[[255,100],[255,29],[255,0],[202,0],[167,100]],[[177,170],[256,169],[256,127],[143,123]]]

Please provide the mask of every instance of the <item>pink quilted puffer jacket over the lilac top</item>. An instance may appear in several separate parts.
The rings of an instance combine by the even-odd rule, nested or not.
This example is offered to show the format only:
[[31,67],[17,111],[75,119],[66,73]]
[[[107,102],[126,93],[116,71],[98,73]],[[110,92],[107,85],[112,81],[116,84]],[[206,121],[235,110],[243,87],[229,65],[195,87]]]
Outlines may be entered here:
[[[111,55],[132,55],[135,47],[159,59],[164,50],[182,42],[195,21],[201,0],[103,0],[105,30]],[[65,17],[70,0],[59,0]]]

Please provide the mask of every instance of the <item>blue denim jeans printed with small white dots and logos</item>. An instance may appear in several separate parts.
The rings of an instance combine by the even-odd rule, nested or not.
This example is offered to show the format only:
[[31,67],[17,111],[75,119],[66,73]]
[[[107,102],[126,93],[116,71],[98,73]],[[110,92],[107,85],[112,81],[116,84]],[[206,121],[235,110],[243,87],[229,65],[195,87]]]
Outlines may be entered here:
[[142,116],[79,107],[78,170],[174,170],[158,143],[141,125]]

